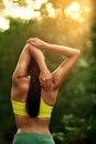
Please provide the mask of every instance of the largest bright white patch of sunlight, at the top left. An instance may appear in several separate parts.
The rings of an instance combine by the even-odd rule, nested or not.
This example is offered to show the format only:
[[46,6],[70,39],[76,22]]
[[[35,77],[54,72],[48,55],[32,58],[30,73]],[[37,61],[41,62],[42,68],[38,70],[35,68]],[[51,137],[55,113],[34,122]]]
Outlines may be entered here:
[[3,0],[4,9],[2,16],[21,18],[23,20],[41,19],[40,11],[35,11],[41,8],[42,3],[47,2],[47,0],[25,0],[26,7],[20,7],[18,2],[12,0]]

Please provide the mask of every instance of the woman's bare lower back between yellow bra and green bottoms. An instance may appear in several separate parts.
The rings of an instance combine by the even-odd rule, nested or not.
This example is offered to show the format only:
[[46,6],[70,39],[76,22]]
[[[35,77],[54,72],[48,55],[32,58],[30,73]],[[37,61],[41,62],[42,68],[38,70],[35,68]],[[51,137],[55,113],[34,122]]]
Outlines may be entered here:
[[49,119],[15,119],[19,132],[49,132]]

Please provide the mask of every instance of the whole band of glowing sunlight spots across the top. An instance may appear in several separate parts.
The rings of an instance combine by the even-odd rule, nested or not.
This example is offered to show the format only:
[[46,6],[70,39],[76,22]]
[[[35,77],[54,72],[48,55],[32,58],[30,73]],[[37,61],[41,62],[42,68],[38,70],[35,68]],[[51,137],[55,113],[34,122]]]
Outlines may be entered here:
[[[46,17],[49,18],[61,18],[60,16],[65,14],[70,20],[78,23],[84,23],[88,20],[92,8],[89,2],[73,0],[71,4],[67,2],[67,7],[63,10],[54,8],[52,2],[49,0],[24,0],[20,4],[19,0],[2,0],[3,9],[0,10],[0,29],[9,28],[8,18],[22,19],[29,21],[31,19],[42,20],[42,6],[46,10]],[[44,11],[45,12],[45,11]],[[7,24],[6,24],[7,22]]]

